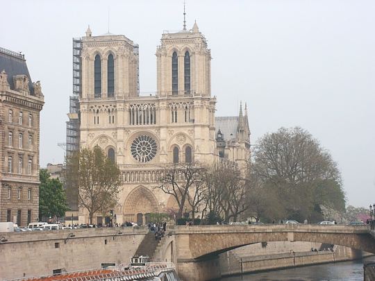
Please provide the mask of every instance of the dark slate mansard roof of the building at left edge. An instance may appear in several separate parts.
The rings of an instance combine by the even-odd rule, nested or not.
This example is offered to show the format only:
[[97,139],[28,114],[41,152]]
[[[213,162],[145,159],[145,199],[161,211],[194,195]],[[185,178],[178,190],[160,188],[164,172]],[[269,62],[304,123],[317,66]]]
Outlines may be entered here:
[[3,70],[5,70],[8,75],[8,83],[11,90],[15,90],[13,76],[26,75],[28,77],[28,89],[30,90],[30,94],[34,94],[33,83],[23,55],[0,48],[0,71]]

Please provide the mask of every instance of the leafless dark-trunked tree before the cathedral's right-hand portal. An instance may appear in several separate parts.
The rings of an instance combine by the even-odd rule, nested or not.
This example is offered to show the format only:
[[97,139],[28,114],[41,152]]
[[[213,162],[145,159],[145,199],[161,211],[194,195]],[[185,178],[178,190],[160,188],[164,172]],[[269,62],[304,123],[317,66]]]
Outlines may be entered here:
[[[205,168],[197,163],[167,164],[163,168],[164,173],[159,178],[161,185],[154,188],[158,188],[176,199],[178,205],[176,219],[181,219],[185,204],[191,202],[194,206],[199,202],[200,192],[195,194],[192,199],[189,196],[193,187],[200,186]],[[195,190],[197,191],[197,188]]]

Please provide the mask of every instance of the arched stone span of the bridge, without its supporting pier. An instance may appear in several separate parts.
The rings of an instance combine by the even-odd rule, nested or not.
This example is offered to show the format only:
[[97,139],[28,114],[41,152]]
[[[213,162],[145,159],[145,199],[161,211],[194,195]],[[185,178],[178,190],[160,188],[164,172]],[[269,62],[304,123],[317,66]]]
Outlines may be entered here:
[[[205,259],[234,248],[270,241],[308,241],[375,253],[375,239],[366,227],[348,225],[215,225],[185,227],[178,241],[188,239],[190,258]],[[181,240],[183,239],[183,240]]]

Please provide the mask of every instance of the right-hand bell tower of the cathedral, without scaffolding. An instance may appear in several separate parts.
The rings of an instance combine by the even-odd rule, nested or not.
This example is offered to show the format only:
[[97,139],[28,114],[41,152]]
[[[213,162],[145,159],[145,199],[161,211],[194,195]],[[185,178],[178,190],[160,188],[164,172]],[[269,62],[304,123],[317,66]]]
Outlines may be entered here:
[[211,95],[211,53],[197,22],[189,31],[185,20],[182,31],[165,31],[156,57],[159,95]]

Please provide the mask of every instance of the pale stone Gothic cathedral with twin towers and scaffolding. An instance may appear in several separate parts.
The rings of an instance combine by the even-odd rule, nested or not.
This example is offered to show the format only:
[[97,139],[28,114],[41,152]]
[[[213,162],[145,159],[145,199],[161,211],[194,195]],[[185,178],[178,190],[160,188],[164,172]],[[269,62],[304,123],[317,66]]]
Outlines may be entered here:
[[[236,117],[215,117],[211,53],[197,23],[191,30],[184,24],[181,31],[163,33],[156,49],[157,92],[147,96],[139,91],[138,44],[124,35],[94,36],[90,27],[73,42],[67,153],[99,145],[117,162],[123,181],[117,223],[144,223],[145,214],[176,207],[172,196],[152,188],[161,164],[220,159],[247,164],[247,107],[242,112],[241,105]],[[78,214],[80,223],[88,222],[84,210]],[[104,223],[101,214],[94,223]]]

